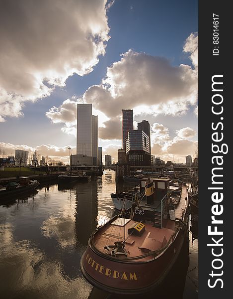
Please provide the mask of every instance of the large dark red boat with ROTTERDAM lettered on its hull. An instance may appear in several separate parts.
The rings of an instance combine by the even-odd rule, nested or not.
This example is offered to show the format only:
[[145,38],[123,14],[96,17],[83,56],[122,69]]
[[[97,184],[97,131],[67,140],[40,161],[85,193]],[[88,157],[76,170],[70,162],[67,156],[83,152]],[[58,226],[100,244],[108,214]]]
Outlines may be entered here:
[[133,204],[129,218],[122,209],[89,238],[80,269],[98,289],[125,295],[155,290],[188,244],[186,187],[177,207],[170,200],[169,179],[141,179],[143,188],[145,194]]

